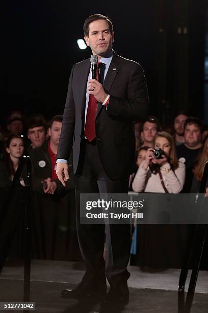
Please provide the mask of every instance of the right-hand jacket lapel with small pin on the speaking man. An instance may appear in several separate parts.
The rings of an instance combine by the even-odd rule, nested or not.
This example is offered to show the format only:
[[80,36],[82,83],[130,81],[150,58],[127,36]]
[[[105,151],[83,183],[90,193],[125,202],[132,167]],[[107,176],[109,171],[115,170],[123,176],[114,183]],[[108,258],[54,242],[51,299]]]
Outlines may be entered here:
[[[118,62],[117,54],[114,52],[111,64],[110,64],[109,69],[108,69],[108,73],[107,73],[106,78],[103,82],[103,88],[106,90],[107,93],[109,93],[111,86],[112,86],[112,83],[113,83],[119,69],[120,69],[120,64]],[[99,114],[102,107],[103,107],[102,104],[100,102],[98,102],[96,117]]]

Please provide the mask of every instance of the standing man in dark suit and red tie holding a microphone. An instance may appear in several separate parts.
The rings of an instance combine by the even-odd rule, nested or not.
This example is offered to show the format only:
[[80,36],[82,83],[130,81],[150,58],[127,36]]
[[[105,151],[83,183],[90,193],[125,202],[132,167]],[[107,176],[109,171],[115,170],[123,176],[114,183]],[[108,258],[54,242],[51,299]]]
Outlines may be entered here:
[[[148,93],[141,66],[112,50],[113,25],[95,14],[84,24],[87,46],[101,62],[100,80],[90,79],[90,60],[73,66],[68,86],[57,154],[57,175],[68,180],[68,155],[73,146],[77,202],[77,234],[86,273],[75,289],[63,297],[102,295],[106,277],[110,292],[106,300],[128,302],[126,270],[131,243],[130,225],[84,225],[80,223],[81,193],[127,193],[135,165],[134,121],[147,117]],[[103,81],[103,83],[102,83]],[[96,100],[96,101],[95,101]],[[106,269],[103,247],[107,244]]]

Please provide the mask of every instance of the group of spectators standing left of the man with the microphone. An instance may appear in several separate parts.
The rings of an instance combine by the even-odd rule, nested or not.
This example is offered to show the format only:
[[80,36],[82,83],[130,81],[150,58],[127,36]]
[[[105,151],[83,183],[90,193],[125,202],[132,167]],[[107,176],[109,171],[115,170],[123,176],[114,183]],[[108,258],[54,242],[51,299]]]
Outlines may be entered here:
[[[56,155],[62,119],[62,115],[57,115],[47,123],[43,116],[34,115],[25,121],[19,111],[14,111],[8,118],[7,129],[2,131],[0,189],[3,214],[7,210],[9,188],[22,156],[29,155],[32,160],[30,209],[33,258],[80,259],[75,227],[75,190],[71,157],[68,160],[70,180],[65,188],[56,175]],[[19,180],[20,188],[24,188],[23,178],[24,172]],[[21,210],[18,202],[19,199],[16,199],[14,210]],[[20,227],[23,227],[23,222],[20,224]],[[22,241],[22,234],[23,232],[15,241]],[[16,254],[18,257],[23,255],[23,241],[20,246],[21,251]],[[11,249],[14,249],[14,245]],[[14,255],[13,251],[10,251],[10,255]]]

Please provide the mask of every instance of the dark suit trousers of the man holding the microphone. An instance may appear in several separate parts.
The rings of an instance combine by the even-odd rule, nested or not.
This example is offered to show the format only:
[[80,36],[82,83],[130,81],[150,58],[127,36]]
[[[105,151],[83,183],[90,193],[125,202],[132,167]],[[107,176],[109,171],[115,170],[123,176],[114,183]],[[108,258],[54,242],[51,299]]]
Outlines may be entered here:
[[[109,151],[111,153],[111,151]],[[119,160],[118,160],[119,162]],[[126,193],[129,177],[111,181],[106,175],[98,155],[96,141],[89,143],[82,140],[81,158],[75,174],[76,223],[80,250],[86,265],[83,281],[86,283],[99,280],[110,285],[126,281],[130,274],[126,269],[131,248],[131,223],[129,224],[81,224],[81,193]],[[106,264],[103,249],[107,245]]]

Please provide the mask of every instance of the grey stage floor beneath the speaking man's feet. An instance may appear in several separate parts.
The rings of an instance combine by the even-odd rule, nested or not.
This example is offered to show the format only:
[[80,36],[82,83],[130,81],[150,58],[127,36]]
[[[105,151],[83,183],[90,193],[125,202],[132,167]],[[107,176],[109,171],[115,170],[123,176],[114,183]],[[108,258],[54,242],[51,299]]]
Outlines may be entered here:
[[[60,298],[62,289],[73,288],[81,281],[84,270],[83,263],[33,260],[31,302],[36,303],[36,312],[104,312],[98,303],[89,300],[79,302],[75,299]],[[122,312],[177,312],[177,284],[180,270],[140,269],[137,266],[129,266],[129,272],[131,272],[128,280],[130,301]],[[208,272],[200,271],[192,313],[208,311],[207,294]],[[23,301],[22,295],[23,266],[7,262],[0,275],[0,302],[20,302]],[[107,313],[109,312],[108,310]],[[114,313],[116,313],[115,308]]]

